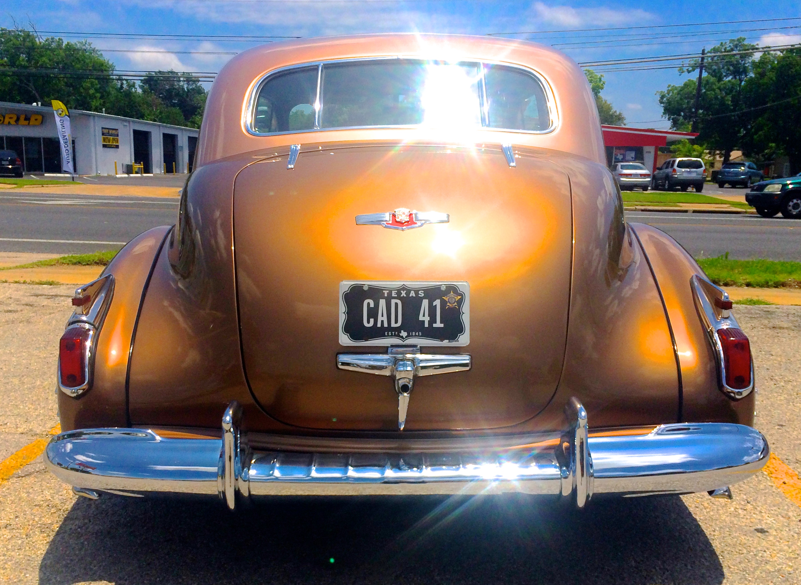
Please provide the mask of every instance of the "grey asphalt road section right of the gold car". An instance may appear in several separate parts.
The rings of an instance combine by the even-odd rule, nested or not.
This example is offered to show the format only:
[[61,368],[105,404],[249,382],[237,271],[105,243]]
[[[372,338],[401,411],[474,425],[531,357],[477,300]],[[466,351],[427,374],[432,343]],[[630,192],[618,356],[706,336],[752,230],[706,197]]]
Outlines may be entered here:
[[[728,189],[727,189],[728,191]],[[626,212],[669,233],[693,256],[801,260],[801,221],[721,213]]]

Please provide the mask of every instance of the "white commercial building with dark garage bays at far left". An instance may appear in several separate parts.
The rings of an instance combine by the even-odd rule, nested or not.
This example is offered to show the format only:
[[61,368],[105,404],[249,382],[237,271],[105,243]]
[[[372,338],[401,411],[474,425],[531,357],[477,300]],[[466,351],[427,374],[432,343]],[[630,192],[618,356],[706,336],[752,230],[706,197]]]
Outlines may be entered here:
[[[78,175],[122,174],[133,163],[145,174],[192,170],[196,128],[83,110],[70,110],[70,126]],[[62,172],[57,136],[52,108],[0,102],[0,148],[15,151],[26,172]]]

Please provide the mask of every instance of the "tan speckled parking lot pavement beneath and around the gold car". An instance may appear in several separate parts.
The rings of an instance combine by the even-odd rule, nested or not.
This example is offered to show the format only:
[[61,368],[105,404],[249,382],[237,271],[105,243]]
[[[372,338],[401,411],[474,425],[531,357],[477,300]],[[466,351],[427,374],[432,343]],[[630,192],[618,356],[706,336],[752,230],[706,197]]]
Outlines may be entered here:
[[[41,437],[55,420],[70,291],[0,284],[18,309],[0,313],[5,452],[11,430]],[[755,354],[756,426],[799,470],[801,307],[735,313]],[[219,502],[76,498],[39,460],[0,485],[0,582],[801,582],[801,507],[764,473],[732,490],[732,501],[594,499],[581,512],[510,496],[279,498],[229,514]]]

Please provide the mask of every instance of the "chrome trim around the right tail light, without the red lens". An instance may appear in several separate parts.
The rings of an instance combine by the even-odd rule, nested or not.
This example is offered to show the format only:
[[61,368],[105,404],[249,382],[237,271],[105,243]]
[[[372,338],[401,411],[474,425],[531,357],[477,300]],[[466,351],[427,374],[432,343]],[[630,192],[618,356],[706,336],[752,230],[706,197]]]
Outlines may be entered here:
[[726,383],[726,360],[723,357],[723,345],[718,338],[718,329],[742,329],[735,317],[728,309],[718,309],[714,301],[731,301],[729,293],[709,280],[694,274],[690,276],[690,288],[693,292],[695,309],[701,318],[703,328],[706,330],[706,339],[709,341],[714,359],[718,365],[718,387],[728,397],[739,399],[748,396],[755,388],[754,357],[751,356],[751,385],[743,389],[731,388]]

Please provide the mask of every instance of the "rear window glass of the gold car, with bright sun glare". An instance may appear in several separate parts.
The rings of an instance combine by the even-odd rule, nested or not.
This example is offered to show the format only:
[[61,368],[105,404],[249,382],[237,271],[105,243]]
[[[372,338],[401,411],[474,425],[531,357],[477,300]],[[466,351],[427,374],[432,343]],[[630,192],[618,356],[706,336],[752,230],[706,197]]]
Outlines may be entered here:
[[279,71],[252,111],[260,134],[388,126],[548,131],[552,120],[545,87],[529,71],[408,58]]

